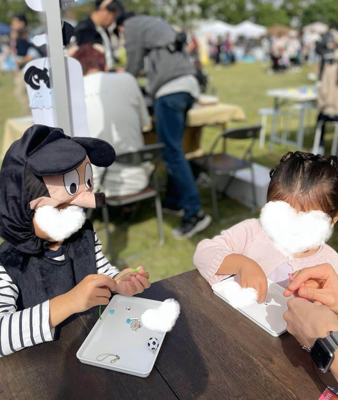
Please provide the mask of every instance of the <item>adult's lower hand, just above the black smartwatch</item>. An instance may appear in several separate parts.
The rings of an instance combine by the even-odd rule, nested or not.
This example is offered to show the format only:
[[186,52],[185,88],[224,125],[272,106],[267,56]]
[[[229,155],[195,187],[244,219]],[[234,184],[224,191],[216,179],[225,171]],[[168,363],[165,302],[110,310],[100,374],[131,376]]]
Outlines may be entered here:
[[338,319],[334,312],[302,298],[288,300],[288,310],[283,317],[287,331],[306,347],[313,346],[317,338],[328,336],[331,330],[338,330]]

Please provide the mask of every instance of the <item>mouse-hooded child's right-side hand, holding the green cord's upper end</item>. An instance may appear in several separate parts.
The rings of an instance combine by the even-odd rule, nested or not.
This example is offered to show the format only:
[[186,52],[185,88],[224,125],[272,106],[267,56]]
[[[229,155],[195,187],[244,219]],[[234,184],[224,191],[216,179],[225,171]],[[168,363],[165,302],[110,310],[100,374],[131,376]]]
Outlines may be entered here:
[[[143,290],[150,287],[148,272],[145,272],[141,266],[137,268],[139,268],[139,272],[133,272],[132,274],[123,276],[123,278],[116,282],[116,293],[123,294],[124,296],[133,296],[134,294],[142,293]],[[126,268],[119,274],[115,275],[114,279],[116,280],[119,276],[132,270],[133,268]]]

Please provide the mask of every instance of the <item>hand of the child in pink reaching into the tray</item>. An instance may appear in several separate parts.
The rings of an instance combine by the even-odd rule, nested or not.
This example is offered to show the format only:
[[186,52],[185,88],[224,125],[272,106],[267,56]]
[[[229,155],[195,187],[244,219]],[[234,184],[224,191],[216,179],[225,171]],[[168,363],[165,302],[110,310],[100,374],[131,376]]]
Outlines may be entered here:
[[254,288],[257,290],[258,303],[265,300],[266,293],[268,292],[268,281],[260,266],[254,261],[246,262],[239,270],[241,276],[242,288]]

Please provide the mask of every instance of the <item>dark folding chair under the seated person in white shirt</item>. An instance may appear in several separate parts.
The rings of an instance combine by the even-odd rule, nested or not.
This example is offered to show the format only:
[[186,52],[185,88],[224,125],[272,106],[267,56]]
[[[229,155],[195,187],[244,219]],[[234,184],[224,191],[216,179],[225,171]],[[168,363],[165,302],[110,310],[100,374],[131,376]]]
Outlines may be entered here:
[[[162,216],[162,206],[161,206],[161,198],[159,192],[159,183],[157,180],[156,173],[157,173],[157,166],[159,164],[159,161],[161,160],[163,148],[164,144],[150,144],[144,146],[139,150],[119,154],[118,156],[116,156],[115,162],[119,162],[120,164],[126,164],[128,166],[139,166],[144,162],[151,162],[151,164],[153,165],[153,172],[151,173],[151,176],[149,178],[149,185],[145,189],[141,190],[141,192],[129,194],[127,196],[112,196],[106,198],[107,206],[119,207],[154,197],[157,224],[159,229],[159,246],[162,246],[164,243],[164,230],[163,230],[163,216]],[[106,172],[107,168],[105,169],[105,172],[102,175],[100,186],[102,186],[104,182]],[[105,223],[107,243],[109,246],[110,259],[112,262],[113,250],[110,244],[111,232],[109,230],[109,212],[107,207],[102,208],[102,218]]]

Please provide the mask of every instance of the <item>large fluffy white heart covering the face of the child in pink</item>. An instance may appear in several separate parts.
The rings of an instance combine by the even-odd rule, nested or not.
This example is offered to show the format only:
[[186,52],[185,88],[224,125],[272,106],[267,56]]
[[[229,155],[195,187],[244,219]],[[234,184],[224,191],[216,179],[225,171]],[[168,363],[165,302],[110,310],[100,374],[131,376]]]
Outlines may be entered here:
[[296,212],[283,201],[270,201],[260,212],[267,236],[285,254],[300,254],[315,249],[332,235],[332,218],[323,211]]

